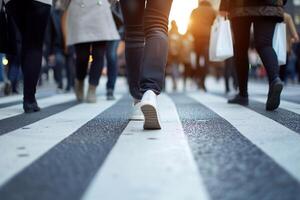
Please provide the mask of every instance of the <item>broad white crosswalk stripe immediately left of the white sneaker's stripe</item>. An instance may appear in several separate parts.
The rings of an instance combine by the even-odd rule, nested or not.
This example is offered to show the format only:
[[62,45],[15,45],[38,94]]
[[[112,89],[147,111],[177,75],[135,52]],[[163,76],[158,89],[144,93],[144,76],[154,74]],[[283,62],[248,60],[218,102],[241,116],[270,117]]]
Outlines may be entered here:
[[[102,99],[96,104],[80,104],[0,136],[0,152],[5,152],[0,157],[0,185],[115,102]],[[18,157],[20,148],[26,148],[22,153],[27,157]]]

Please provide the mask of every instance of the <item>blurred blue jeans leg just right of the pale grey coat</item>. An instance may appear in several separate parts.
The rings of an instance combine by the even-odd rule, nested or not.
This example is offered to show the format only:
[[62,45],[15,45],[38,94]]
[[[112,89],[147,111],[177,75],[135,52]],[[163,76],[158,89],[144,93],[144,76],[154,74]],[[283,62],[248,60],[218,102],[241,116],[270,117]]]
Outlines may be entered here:
[[106,88],[108,90],[114,90],[115,84],[118,76],[118,66],[117,66],[117,49],[119,46],[119,40],[108,41],[106,43],[106,60],[107,60],[107,84]]

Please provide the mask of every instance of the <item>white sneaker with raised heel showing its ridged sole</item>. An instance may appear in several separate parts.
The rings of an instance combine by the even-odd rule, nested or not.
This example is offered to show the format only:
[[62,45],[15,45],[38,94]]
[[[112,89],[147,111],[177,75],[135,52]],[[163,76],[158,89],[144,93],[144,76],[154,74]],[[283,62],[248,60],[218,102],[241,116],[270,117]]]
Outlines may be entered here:
[[144,129],[146,130],[161,129],[156,101],[157,96],[151,90],[145,92],[141,100],[141,110],[145,118]]

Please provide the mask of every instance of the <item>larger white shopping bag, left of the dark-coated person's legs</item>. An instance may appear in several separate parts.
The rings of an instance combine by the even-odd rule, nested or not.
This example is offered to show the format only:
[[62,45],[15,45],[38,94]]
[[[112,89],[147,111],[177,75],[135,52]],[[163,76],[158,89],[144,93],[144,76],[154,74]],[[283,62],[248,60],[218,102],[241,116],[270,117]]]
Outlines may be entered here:
[[211,28],[209,60],[221,62],[231,58],[233,55],[230,21],[223,17],[218,17]]

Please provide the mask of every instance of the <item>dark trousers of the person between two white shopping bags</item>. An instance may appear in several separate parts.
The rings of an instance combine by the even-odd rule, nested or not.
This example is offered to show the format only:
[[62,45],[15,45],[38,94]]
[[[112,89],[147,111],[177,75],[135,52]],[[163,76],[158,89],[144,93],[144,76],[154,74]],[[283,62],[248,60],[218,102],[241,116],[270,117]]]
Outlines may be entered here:
[[279,77],[277,55],[272,47],[277,19],[271,17],[237,17],[232,19],[235,40],[235,68],[240,95],[248,96],[248,49],[251,24],[254,25],[255,48],[267,70],[269,82]]

